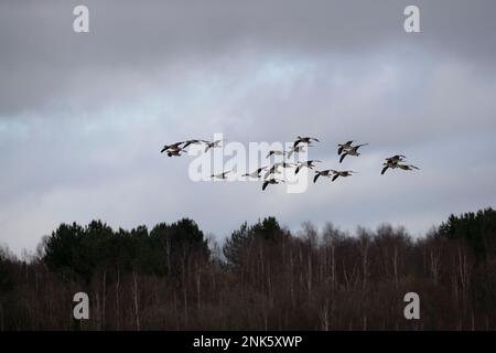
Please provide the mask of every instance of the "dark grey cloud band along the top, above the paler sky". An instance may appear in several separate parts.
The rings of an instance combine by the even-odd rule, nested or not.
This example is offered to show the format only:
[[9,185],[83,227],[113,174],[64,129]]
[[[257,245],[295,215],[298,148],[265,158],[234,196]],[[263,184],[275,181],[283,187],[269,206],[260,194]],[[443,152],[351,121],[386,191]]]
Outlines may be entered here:
[[185,63],[187,72],[239,52],[362,56],[407,46],[490,63],[496,47],[493,1],[418,1],[423,33],[417,36],[402,31],[408,1],[87,1],[88,35],[72,32],[76,4],[0,4],[2,116],[78,92],[128,98],[136,81],[153,85],[164,67]]

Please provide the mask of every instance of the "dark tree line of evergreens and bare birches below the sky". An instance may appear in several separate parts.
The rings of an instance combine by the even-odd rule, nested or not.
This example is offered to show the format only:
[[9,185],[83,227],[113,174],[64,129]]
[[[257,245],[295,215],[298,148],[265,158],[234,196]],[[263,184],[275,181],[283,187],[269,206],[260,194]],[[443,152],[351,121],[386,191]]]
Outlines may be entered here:
[[[73,296],[90,298],[74,320]],[[403,296],[421,298],[406,320]],[[274,217],[224,244],[192,220],[114,231],[61,224],[30,260],[0,248],[0,330],[494,330],[496,211],[403,227]]]

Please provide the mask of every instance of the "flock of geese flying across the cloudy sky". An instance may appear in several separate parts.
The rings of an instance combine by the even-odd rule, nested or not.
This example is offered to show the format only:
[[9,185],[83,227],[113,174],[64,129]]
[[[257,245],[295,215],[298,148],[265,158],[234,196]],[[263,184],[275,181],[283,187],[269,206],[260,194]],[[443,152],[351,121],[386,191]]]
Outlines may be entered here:
[[[181,142],[175,142],[172,145],[165,145],[161,153],[165,152],[169,157],[179,157],[182,156],[182,153],[187,152],[186,148],[192,145],[204,145],[205,152],[208,152],[208,150],[222,147],[220,143],[223,140],[214,140],[214,141],[207,141],[207,140],[186,140]],[[306,161],[298,161],[296,163],[290,163],[285,161],[287,158],[291,158],[291,156],[303,152],[304,148],[313,147],[313,142],[320,142],[319,139],[313,137],[301,137],[298,136],[294,143],[289,148],[288,151],[284,150],[270,150],[267,154],[267,158],[269,159],[272,156],[283,157],[283,160],[280,162],[274,162],[272,165],[266,165],[258,168],[257,170],[252,172],[247,172],[242,174],[242,176],[249,176],[252,179],[261,179],[263,180],[262,183],[262,190],[266,190],[268,185],[270,184],[279,184],[285,182],[285,180],[277,178],[280,173],[280,169],[287,169],[287,168],[295,168],[294,174],[298,174],[300,170],[303,168],[308,168],[311,170],[314,170],[315,175],[313,176],[313,182],[315,183],[320,176],[322,178],[331,178],[331,181],[335,181],[337,178],[346,178],[351,176],[357,172],[352,170],[334,170],[334,169],[326,169],[326,170],[316,170],[316,163],[321,163],[320,160],[306,160]],[[346,158],[346,156],[352,157],[358,157],[360,153],[358,152],[358,149],[368,146],[368,143],[358,143],[355,145],[355,140],[349,140],[344,143],[337,145],[337,156],[339,156],[339,163],[343,163],[343,160]],[[406,163],[406,157],[403,154],[396,154],[392,157],[386,158],[386,161],[382,163],[382,170],[380,174],[382,175],[388,169],[401,169],[407,171],[418,170],[419,168],[413,164],[407,164]],[[219,180],[226,180],[228,179],[228,174],[231,173],[231,171],[223,171],[218,174],[212,174],[211,178],[213,179],[219,179]]]

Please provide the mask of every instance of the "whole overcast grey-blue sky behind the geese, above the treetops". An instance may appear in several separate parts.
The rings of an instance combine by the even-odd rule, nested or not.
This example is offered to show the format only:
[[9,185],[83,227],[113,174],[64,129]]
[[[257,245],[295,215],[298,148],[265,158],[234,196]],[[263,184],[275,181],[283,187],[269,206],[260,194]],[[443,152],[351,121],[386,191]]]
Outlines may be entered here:
[[[73,32],[89,8],[90,32]],[[421,33],[403,31],[420,8]],[[496,203],[496,2],[0,0],[0,243],[33,250],[62,222],[194,218],[219,238],[274,215],[298,229],[382,222],[424,234]],[[322,169],[290,194],[192,182],[188,138],[315,136]],[[336,143],[370,145],[337,162]],[[421,168],[379,175],[402,153]]]

